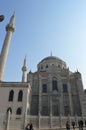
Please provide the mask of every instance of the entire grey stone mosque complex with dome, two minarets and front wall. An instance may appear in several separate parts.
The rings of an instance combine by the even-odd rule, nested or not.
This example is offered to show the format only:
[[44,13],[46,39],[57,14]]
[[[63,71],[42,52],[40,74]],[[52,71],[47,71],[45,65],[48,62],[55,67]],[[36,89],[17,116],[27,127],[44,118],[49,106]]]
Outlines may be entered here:
[[[21,82],[3,81],[15,14],[6,26],[0,53],[0,130],[23,130],[27,123],[34,129],[62,128],[67,120],[86,119],[86,93],[81,73],[71,72],[66,62],[48,56],[27,72],[26,57]],[[27,81],[26,81],[27,79]]]

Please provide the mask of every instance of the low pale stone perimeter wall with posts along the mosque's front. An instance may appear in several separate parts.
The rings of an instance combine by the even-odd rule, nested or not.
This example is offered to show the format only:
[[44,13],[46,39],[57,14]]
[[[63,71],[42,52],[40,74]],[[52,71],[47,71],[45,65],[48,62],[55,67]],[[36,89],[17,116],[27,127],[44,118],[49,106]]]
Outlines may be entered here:
[[[18,116],[0,114],[0,130],[24,130],[27,123],[32,123],[34,130],[55,130],[65,128],[66,121],[70,123],[74,120],[76,127],[78,127],[78,120],[86,120],[86,117],[54,117],[54,116]],[[72,126],[71,126],[72,127]]]

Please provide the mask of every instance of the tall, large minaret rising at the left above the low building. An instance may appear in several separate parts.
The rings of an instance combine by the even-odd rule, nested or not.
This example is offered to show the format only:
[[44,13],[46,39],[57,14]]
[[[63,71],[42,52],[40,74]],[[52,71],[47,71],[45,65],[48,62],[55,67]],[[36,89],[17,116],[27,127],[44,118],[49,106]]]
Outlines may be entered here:
[[12,15],[10,22],[6,26],[6,36],[0,54],[0,81],[3,80],[4,69],[5,69],[7,55],[10,47],[10,41],[11,41],[12,33],[15,31],[14,22],[15,22],[15,13]]

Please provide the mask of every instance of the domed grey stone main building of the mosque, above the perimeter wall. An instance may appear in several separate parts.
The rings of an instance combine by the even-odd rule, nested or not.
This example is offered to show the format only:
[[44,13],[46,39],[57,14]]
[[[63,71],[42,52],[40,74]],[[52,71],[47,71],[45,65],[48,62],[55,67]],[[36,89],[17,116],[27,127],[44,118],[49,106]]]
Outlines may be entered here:
[[[30,115],[86,116],[81,74],[71,72],[61,59],[49,56],[27,75],[31,85]],[[86,100],[85,100],[86,101]]]

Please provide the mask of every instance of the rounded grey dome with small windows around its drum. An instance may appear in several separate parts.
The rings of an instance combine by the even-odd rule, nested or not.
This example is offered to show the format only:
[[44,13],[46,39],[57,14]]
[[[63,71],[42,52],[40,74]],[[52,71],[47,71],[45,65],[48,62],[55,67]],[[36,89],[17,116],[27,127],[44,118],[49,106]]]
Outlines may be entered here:
[[66,63],[56,56],[48,56],[39,62],[37,65],[38,70],[47,70],[50,68],[66,68]]

